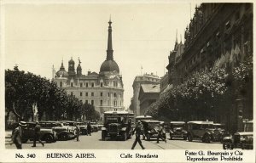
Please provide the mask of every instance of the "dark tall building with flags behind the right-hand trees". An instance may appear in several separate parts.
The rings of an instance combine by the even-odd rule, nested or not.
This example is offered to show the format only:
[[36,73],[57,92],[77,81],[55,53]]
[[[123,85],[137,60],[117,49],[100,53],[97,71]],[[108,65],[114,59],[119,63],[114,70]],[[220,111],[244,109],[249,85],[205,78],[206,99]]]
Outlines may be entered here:
[[[220,65],[219,60],[231,63],[223,64],[231,71],[246,55],[253,54],[253,3],[201,3],[195,8],[184,38],[181,53],[176,53],[175,46],[169,56],[169,84],[175,86],[195,71],[211,70]],[[234,98],[236,104],[230,109],[230,120],[225,122],[236,131],[241,117],[253,119],[253,94]]]

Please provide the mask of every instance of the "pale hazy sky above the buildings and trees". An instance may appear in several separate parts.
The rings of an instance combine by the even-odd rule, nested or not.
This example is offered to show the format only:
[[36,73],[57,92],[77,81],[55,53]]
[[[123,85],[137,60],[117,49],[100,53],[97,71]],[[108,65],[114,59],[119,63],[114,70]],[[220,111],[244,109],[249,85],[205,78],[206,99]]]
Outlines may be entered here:
[[125,108],[131,104],[136,76],[165,75],[176,35],[178,42],[184,41],[184,30],[195,11],[195,3],[184,2],[39,2],[4,4],[4,69],[18,65],[20,70],[51,79],[52,66],[59,70],[63,59],[67,70],[73,57],[75,67],[81,60],[83,74],[99,73],[107,56],[111,15],[113,59],[123,76]]

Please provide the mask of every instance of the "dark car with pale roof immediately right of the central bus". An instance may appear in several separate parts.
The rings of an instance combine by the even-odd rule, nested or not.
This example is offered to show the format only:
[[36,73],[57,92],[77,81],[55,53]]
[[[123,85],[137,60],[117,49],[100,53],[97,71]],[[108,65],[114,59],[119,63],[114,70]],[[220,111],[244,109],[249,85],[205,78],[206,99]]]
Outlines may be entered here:
[[[143,139],[147,139],[148,141],[152,138],[158,138],[159,130],[160,130],[160,121],[156,120],[143,120]],[[162,137],[166,138],[166,132],[162,132]]]

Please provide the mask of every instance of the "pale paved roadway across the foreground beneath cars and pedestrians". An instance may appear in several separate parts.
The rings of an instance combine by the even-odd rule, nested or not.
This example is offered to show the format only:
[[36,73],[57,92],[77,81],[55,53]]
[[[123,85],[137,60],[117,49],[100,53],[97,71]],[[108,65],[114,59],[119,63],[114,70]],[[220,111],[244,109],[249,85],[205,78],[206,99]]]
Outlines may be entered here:
[[[80,141],[68,140],[68,141],[57,141],[55,143],[45,143],[44,147],[40,143],[37,143],[37,147],[32,147],[32,141],[23,143],[23,149],[131,149],[131,145],[134,141],[134,137],[127,141],[121,140],[101,140],[101,131],[93,132],[91,136],[81,135]],[[5,147],[6,149],[15,149],[15,144],[10,145],[10,132],[6,132]],[[169,138],[169,136],[167,136]],[[181,139],[167,140],[167,143],[160,141],[156,143],[156,140],[145,141],[142,140],[143,146],[146,149],[222,149],[221,143],[201,143],[200,141],[184,141]],[[139,144],[135,149],[141,149]]]

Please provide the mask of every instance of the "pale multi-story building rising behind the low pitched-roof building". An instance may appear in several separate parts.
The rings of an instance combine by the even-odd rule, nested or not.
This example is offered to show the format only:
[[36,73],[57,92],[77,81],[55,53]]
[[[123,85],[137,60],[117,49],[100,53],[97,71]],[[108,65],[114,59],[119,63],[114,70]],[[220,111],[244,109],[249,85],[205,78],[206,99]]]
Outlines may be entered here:
[[133,97],[132,97],[132,104],[131,110],[134,111],[135,116],[141,115],[140,110],[140,101],[138,99],[140,88],[142,84],[159,84],[160,78],[159,76],[155,76],[153,73],[151,74],[144,74],[143,76],[136,76],[132,87],[133,87]]

